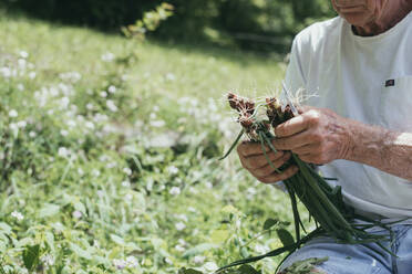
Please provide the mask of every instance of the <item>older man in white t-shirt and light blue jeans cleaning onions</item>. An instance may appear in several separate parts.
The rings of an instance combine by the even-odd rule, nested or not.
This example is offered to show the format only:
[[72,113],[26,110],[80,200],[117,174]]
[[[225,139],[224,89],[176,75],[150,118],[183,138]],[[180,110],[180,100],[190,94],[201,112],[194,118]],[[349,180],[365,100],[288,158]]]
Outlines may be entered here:
[[[359,214],[382,221],[412,218],[412,0],[332,0],[338,18],[300,32],[292,44],[286,85],[319,96],[275,131],[269,155],[282,166],[292,151],[338,178],[344,201]],[[316,106],[316,107],[313,107]],[[243,166],[265,183],[278,175],[260,146],[238,146]],[[315,239],[282,268],[308,257],[329,260],[313,273],[412,273],[412,221],[393,224],[394,242],[339,244]],[[379,228],[372,233],[385,233]]]

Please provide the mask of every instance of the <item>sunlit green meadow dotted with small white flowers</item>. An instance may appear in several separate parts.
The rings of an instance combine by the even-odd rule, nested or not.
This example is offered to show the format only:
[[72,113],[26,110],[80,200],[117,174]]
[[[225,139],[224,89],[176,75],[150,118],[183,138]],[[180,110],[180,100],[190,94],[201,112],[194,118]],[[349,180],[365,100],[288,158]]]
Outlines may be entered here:
[[287,197],[217,158],[225,92],[274,93],[282,62],[3,13],[0,41],[0,273],[212,273],[281,246]]

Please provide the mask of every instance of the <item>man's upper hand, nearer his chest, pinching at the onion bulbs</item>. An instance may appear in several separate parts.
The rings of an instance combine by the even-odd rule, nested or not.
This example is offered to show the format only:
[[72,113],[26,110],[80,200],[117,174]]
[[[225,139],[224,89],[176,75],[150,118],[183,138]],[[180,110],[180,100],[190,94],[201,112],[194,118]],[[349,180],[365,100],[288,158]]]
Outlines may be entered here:
[[306,162],[344,159],[350,143],[348,119],[327,108],[302,107],[301,114],[275,128],[276,149],[290,150]]

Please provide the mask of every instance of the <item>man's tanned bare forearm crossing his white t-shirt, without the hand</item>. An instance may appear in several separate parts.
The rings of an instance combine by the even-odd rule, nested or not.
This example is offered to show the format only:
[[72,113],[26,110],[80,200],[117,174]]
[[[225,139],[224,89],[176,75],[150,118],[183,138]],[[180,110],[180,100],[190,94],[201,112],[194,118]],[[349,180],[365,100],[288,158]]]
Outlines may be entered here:
[[412,134],[347,120],[344,159],[362,162],[412,181]]

